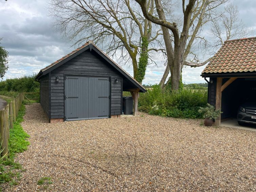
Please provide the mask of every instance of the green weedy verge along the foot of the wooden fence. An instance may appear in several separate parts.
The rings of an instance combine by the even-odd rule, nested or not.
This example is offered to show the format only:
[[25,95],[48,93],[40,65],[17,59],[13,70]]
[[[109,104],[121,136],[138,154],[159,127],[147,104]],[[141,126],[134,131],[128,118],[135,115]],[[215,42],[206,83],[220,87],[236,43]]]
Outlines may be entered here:
[[14,161],[15,154],[27,150],[30,145],[30,142],[26,140],[30,136],[23,130],[20,124],[24,120],[24,115],[25,105],[22,104],[16,122],[13,124],[13,129],[10,129],[9,155],[0,165],[0,183],[9,182],[9,185],[17,185],[17,180],[20,179],[21,172],[24,171],[19,162]]

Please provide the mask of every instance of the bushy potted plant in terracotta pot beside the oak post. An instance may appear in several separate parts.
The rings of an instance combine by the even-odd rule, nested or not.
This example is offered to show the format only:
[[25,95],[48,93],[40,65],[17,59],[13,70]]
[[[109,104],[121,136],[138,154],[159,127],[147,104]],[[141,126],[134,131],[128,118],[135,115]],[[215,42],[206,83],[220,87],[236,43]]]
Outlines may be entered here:
[[215,107],[209,103],[207,103],[206,107],[200,107],[198,112],[203,115],[205,126],[212,126],[213,120],[222,113],[220,109],[215,110]]

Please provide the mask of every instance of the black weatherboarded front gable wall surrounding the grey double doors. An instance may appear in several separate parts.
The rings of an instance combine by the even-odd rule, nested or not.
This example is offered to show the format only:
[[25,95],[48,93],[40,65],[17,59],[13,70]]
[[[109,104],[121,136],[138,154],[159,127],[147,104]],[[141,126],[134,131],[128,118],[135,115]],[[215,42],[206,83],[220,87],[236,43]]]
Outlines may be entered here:
[[[93,50],[86,50],[68,62],[51,71],[51,118],[64,118],[65,76],[110,77],[111,115],[121,114],[123,78],[108,62]],[[59,81],[56,81],[56,77]],[[118,81],[116,82],[115,79]]]

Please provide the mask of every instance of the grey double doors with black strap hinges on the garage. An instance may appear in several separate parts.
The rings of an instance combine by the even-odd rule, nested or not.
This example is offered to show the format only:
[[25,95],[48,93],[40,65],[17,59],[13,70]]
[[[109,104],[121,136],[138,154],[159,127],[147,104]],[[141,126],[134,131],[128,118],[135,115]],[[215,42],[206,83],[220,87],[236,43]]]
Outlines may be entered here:
[[109,103],[109,78],[66,76],[66,120],[108,118]]

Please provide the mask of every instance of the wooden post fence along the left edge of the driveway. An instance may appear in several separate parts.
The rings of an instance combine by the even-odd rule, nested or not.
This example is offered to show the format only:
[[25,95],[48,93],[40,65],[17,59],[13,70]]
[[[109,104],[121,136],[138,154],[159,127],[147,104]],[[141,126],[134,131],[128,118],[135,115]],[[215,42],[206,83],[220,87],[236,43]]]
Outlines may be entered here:
[[10,137],[10,129],[13,129],[13,123],[16,121],[18,112],[24,100],[24,93],[20,93],[14,100],[7,104],[0,111],[0,142],[2,142],[2,154],[8,154],[8,139]]

